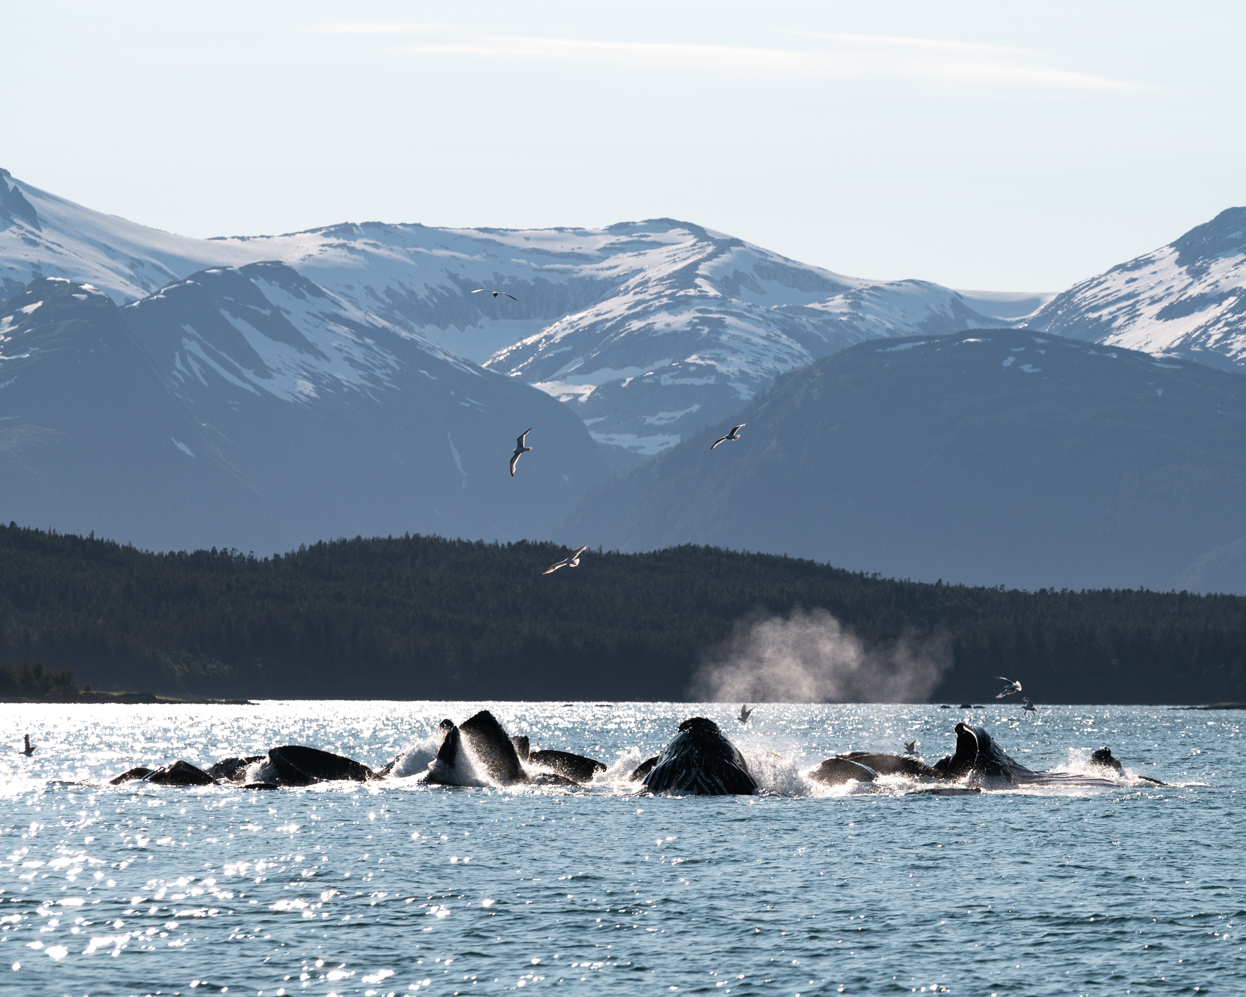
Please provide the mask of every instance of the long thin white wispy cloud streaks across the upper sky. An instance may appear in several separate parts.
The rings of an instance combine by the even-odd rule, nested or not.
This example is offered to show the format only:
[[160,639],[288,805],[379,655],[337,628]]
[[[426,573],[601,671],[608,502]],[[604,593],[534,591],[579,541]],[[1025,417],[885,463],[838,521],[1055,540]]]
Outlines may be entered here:
[[[1154,91],[1155,87],[1054,65],[1049,56],[983,42],[890,35],[776,31],[800,39],[800,47],[698,45],[683,42],[596,41],[523,35],[462,37],[447,24],[323,24],[308,31],[326,35],[396,37],[440,32],[441,39],[400,51],[425,57],[562,60],[735,74],[918,79],[1104,92]],[[456,37],[457,36],[457,37]]]

